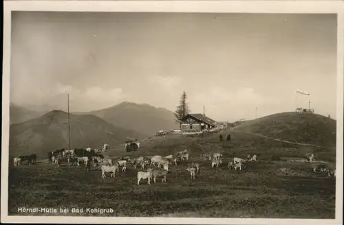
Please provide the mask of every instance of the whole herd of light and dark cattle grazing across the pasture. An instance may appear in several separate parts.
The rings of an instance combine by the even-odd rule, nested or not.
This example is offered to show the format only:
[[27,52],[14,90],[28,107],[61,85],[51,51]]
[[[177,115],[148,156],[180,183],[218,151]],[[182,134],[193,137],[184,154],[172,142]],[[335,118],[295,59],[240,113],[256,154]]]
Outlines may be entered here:
[[[133,142],[131,142],[133,143]],[[130,143],[126,143],[127,146]],[[140,143],[136,143],[138,147]],[[74,150],[55,150],[49,152],[48,154],[48,161],[55,165],[56,168],[61,167],[61,163],[65,161],[68,166],[83,165],[89,169],[91,165],[93,167],[100,167],[101,169],[101,176],[102,178],[106,178],[106,173],[111,173],[111,177],[115,177],[116,171],[119,172],[127,170],[127,165],[131,164],[134,168],[140,166],[140,169],[144,169],[144,167],[148,167],[147,171],[138,171],[137,173],[137,182],[140,185],[140,180],[148,180],[148,184],[151,184],[151,180],[153,179],[156,182],[156,178],[162,178],[162,182],[166,182],[166,176],[170,171],[171,165],[178,165],[178,162],[185,161],[187,162],[186,171],[189,172],[191,176],[191,180],[195,179],[195,173],[200,172],[200,163],[197,163],[191,159],[191,155],[188,150],[184,150],[181,152],[176,153],[175,155],[169,156],[140,156],[138,158],[133,158],[129,156],[122,156],[122,157],[115,157],[111,159],[109,157],[105,157],[102,152],[106,152],[109,149],[108,144],[104,144],[101,150],[95,149],[92,150],[90,147],[85,149],[74,149]],[[211,167],[219,167],[223,163],[223,155],[219,153],[206,153],[201,154],[201,158],[204,161],[211,161]],[[19,156],[14,158],[14,166],[18,166],[19,164],[23,163],[23,161],[28,161],[29,164],[34,164],[36,161],[36,154],[32,154],[30,156]],[[309,163],[312,163],[314,160],[314,154],[306,154],[305,158]],[[228,169],[235,169],[241,170],[246,169],[248,162],[257,161],[257,155],[254,154],[253,156],[246,156],[246,158],[239,158],[234,157],[228,159]],[[314,173],[321,172],[327,173],[328,176],[336,176],[336,170],[330,169],[327,165],[314,165],[313,167]]]

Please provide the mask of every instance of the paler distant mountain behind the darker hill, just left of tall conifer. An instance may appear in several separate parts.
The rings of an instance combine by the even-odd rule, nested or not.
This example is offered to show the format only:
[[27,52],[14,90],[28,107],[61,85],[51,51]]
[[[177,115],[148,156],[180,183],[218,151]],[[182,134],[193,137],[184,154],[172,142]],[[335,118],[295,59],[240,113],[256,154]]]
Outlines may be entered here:
[[96,115],[120,128],[135,130],[149,136],[158,130],[179,128],[179,125],[175,123],[173,112],[165,108],[155,108],[149,104],[122,102],[110,108],[76,114],[85,113]]

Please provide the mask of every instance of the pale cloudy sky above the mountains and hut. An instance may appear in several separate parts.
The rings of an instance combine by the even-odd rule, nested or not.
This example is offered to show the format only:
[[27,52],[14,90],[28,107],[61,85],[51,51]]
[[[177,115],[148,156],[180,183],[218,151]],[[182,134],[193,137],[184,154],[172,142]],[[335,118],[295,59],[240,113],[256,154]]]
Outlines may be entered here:
[[12,12],[10,101],[174,111],[186,91],[215,120],[336,118],[336,47],[335,14]]

